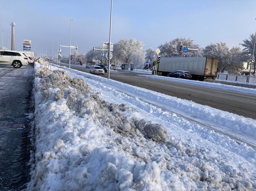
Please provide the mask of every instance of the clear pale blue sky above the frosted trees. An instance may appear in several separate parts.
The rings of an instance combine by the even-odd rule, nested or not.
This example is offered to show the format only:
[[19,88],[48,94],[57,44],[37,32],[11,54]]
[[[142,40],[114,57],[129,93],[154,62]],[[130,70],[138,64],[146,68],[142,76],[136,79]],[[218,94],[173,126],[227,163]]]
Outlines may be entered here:
[[[0,0],[0,30],[3,46],[11,44],[11,22],[15,22],[15,48],[31,40],[35,53],[57,54],[61,45],[86,53],[109,41],[111,0]],[[255,0],[113,0],[112,42],[135,38],[144,49],[177,37],[194,39],[201,47],[225,42],[232,48],[256,31]],[[0,31],[2,37],[2,31]],[[2,38],[1,38],[2,43]],[[1,44],[2,46],[2,44]],[[11,45],[10,45],[11,46]],[[68,56],[63,48],[62,55]],[[73,51],[71,50],[71,54]]]

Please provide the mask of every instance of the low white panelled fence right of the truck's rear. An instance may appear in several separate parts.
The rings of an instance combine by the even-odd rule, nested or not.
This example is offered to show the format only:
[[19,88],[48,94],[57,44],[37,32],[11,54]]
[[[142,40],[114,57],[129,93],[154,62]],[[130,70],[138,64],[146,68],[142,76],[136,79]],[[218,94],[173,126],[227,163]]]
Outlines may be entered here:
[[[238,82],[247,83],[248,78],[249,76],[245,76],[245,75],[217,73],[218,80],[229,80],[229,81],[238,81]],[[256,76],[250,76],[250,83],[256,83]]]

